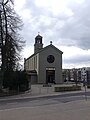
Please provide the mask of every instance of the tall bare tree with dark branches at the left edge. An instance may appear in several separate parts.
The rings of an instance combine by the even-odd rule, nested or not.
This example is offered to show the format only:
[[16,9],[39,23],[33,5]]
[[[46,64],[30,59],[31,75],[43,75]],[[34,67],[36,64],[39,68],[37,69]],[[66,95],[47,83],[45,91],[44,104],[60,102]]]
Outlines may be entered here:
[[20,60],[20,51],[24,41],[18,31],[22,28],[22,21],[14,11],[13,0],[2,1],[2,70],[11,71],[15,69],[17,61]]

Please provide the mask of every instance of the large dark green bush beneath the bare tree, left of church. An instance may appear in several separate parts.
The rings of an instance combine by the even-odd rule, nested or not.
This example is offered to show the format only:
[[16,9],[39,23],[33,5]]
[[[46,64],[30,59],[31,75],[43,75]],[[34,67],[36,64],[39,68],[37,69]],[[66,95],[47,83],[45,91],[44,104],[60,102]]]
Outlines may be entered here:
[[18,92],[26,91],[29,88],[28,83],[25,71],[6,71],[4,73],[4,88],[9,88],[9,90],[16,90]]

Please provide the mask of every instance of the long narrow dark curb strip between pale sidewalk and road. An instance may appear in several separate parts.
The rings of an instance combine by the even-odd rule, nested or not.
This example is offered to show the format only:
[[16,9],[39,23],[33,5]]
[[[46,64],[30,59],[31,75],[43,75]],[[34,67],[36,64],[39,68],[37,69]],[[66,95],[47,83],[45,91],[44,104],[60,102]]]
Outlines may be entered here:
[[[87,93],[90,93],[90,91],[88,91]],[[48,95],[37,95],[37,96],[27,96],[27,97],[14,97],[14,98],[1,98],[0,99],[0,104],[1,103],[5,103],[5,102],[13,102],[13,101],[17,101],[17,102],[22,102],[24,100],[29,100],[29,101],[33,101],[33,100],[37,100],[37,99],[50,99],[50,98],[54,98],[54,97],[68,97],[68,96],[81,96],[81,95],[85,95],[84,91],[77,91],[77,92],[67,92],[67,93],[59,93],[59,94],[48,94]]]

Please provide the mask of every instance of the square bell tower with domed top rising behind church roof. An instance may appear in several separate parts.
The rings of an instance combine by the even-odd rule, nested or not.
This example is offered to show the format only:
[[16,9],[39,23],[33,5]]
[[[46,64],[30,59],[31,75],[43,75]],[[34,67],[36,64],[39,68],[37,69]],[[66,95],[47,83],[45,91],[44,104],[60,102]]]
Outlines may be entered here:
[[43,48],[42,44],[42,36],[39,34],[35,37],[35,44],[34,44],[34,53],[39,52]]

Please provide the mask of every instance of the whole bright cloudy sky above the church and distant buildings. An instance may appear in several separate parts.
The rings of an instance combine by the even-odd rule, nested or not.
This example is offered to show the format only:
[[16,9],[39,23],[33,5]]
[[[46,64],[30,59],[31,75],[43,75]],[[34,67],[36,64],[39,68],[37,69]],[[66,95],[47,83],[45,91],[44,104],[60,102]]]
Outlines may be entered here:
[[23,57],[34,53],[34,38],[40,32],[44,47],[63,51],[63,68],[90,67],[90,0],[15,0],[15,10],[24,26]]

